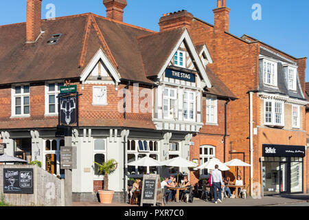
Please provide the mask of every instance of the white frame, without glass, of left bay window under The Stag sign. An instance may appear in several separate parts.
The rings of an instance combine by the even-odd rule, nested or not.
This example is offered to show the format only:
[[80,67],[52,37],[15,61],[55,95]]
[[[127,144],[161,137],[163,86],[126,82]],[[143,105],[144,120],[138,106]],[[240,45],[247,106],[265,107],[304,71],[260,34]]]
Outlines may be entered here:
[[[165,96],[165,89],[168,90],[168,96]],[[171,96],[171,92],[170,91],[174,91],[174,96]],[[165,115],[165,100],[168,101],[168,115]],[[174,100],[175,106],[173,108],[171,108],[171,100]],[[177,99],[177,89],[176,88],[172,88],[172,87],[165,87],[163,89],[163,118],[165,119],[170,119],[170,120],[174,120],[178,118],[178,99]],[[172,109],[174,109],[174,111],[172,111]]]

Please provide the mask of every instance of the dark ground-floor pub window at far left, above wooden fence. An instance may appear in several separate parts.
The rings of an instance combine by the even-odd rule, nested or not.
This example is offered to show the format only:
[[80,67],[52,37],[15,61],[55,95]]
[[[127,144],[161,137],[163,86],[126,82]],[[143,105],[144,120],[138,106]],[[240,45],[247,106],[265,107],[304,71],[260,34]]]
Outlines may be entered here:
[[32,161],[32,144],[31,139],[14,140],[14,157]]

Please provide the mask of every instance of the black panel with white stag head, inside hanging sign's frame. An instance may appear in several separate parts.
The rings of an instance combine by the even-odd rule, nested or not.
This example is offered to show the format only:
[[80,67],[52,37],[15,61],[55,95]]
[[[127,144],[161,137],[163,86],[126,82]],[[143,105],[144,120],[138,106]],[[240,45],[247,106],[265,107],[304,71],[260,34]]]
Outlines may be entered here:
[[76,123],[76,97],[62,97],[60,98],[60,120],[61,124],[75,124]]

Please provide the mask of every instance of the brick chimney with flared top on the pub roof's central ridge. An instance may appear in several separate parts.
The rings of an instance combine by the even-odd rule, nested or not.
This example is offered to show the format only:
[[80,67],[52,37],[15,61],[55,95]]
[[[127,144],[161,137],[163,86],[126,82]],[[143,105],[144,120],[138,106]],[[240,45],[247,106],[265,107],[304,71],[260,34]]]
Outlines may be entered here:
[[126,0],[103,0],[106,7],[106,17],[117,21],[124,21],[124,8]]

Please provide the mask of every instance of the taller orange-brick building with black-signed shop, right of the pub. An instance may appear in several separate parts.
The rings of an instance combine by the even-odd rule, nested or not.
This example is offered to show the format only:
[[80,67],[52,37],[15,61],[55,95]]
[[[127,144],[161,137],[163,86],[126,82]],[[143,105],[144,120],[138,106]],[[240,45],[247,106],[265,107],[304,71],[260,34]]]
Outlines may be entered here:
[[306,192],[307,58],[295,58],[251,36],[230,34],[230,9],[225,0],[217,2],[214,25],[189,12],[174,12],[163,14],[160,30],[185,27],[195,45],[207,45],[213,60],[209,67],[237,96],[230,104],[227,159],[253,165],[238,173],[246,188],[260,188],[264,195]]

